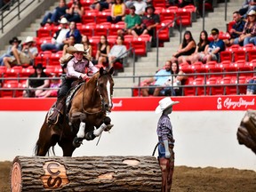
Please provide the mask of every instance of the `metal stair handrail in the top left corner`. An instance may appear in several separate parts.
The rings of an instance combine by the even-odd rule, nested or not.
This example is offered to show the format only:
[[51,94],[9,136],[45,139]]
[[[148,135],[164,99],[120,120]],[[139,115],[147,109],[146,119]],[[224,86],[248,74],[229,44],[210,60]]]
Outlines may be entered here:
[[[0,20],[1,20],[1,31],[2,31],[2,34],[4,34],[4,27],[5,27],[6,25],[8,25],[9,23],[11,23],[12,20],[14,20],[16,17],[18,17],[18,20],[20,20],[20,13],[21,13],[21,12],[24,12],[24,11],[28,8],[28,6],[30,6],[30,4],[32,4],[33,2],[35,2],[34,0],[30,0],[30,3],[29,3],[29,4],[27,4],[25,7],[23,7],[22,9],[20,9],[20,5],[23,4],[25,1],[28,2],[28,0],[16,0],[16,1],[11,1],[11,2],[9,2],[8,4],[5,4],[4,7],[2,7],[2,8],[0,9],[0,14],[1,14]],[[40,3],[40,1],[41,1],[41,0],[37,0],[38,3]],[[13,3],[13,4],[17,3],[17,4],[14,5],[14,6],[12,6],[8,12],[7,12],[6,10],[4,10],[7,6],[8,6],[8,7],[11,6],[12,3]],[[4,12],[7,12],[7,13],[4,14]],[[11,14],[11,13],[13,14],[13,12],[17,12],[17,13],[14,14],[13,17],[10,18],[10,20],[7,20],[6,22],[4,22],[4,19],[5,19],[9,14]]]

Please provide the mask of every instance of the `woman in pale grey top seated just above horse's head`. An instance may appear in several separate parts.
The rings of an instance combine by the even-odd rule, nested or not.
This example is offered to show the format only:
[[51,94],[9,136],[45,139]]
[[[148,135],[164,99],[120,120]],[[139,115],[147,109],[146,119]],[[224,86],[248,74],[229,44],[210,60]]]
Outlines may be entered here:
[[126,51],[127,49],[124,45],[124,36],[117,36],[116,44],[110,49],[110,52],[108,53],[108,62],[110,64],[110,68],[114,66],[115,61],[120,61],[123,63],[122,59],[127,56],[127,53],[125,53]]

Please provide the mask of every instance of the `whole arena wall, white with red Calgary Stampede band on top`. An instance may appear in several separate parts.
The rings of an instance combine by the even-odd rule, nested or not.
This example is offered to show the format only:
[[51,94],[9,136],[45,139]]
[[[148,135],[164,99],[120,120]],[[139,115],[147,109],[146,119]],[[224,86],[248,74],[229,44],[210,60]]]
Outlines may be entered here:
[[[115,124],[100,138],[84,140],[74,156],[151,156],[156,146],[154,110],[162,98],[115,98],[110,117]],[[256,171],[256,156],[239,145],[237,128],[253,96],[175,97],[171,117],[175,164],[193,167],[235,167]],[[55,99],[0,99],[0,161],[33,156],[44,116]],[[61,156],[59,147],[56,155]],[[157,156],[157,151],[155,156]]]

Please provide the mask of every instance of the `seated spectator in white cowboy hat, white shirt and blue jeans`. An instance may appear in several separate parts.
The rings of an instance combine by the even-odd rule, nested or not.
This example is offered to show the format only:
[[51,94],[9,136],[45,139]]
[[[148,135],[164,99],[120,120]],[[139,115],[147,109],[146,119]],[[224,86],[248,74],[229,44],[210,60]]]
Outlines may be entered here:
[[60,26],[61,28],[57,30],[52,37],[52,43],[41,44],[41,50],[43,52],[47,50],[60,51],[63,49],[64,41],[66,40],[66,35],[69,30],[68,20],[66,18],[62,18],[60,20]]

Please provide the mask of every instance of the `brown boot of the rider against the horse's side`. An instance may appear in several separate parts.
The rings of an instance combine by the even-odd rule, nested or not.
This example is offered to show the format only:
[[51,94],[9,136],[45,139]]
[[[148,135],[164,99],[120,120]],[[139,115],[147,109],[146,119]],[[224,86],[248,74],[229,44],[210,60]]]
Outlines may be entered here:
[[48,123],[50,124],[58,123],[60,116],[63,115],[64,105],[65,105],[65,97],[56,101],[55,107],[53,108],[52,113],[49,115],[47,119]]

